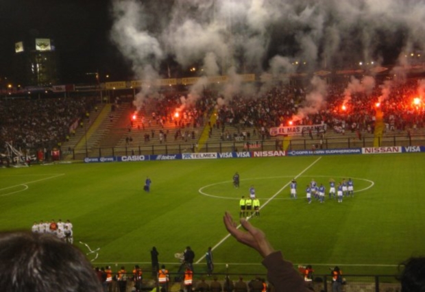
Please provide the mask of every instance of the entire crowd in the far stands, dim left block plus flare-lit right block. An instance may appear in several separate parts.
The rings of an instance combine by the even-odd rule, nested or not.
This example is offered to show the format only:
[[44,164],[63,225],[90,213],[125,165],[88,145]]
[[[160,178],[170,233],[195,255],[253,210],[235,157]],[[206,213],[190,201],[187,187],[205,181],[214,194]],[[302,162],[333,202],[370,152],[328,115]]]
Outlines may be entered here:
[[[345,130],[373,133],[378,109],[383,112],[385,131],[406,130],[411,134],[424,127],[425,80],[376,82],[368,90],[352,90],[348,95],[352,80],[326,84],[326,90],[321,93],[316,93],[317,88],[309,82],[267,90],[259,85],[252,94],[237,93],[227,99],[219,90],[204,90],[196,98],[187,92],[171,91],[145,106],[138,127],[144,130],[151,123],[159,125],[164,142],[167,134],[174,140],[193,138],[193,133],[198,132],[193,128],[204,125],[210,127],[210,133],[214,127],[220,129],[222,140],[235,137],[245,140],[250,135],[264,139],[269,138],[270,127],[289,125],[290,121],[294,125],[326,123],[328,130],[341,133]],[[57,147],[69,135],[70,126],[94,107],[94,97],[0,99],[0,147],[5,142],[12,142],[17,149]],[[217,120],[212,125],[209,116],[214,108]],[[178,131],[165,130],[166,123]],[[236,127],[239,132],[229,132],[226,125]]]

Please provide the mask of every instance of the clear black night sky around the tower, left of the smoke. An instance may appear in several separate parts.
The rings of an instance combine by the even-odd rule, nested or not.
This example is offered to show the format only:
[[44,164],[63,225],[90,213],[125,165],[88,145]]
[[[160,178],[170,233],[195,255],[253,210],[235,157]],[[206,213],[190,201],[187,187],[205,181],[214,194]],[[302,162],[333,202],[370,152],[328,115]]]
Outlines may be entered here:
[[132,78],[128,62],[110,42],[108,0],[2,0],[0,76],[11,72],[14,43],[51,38],[60,54],[63,83],[90,82],[88,72],[111,80]]

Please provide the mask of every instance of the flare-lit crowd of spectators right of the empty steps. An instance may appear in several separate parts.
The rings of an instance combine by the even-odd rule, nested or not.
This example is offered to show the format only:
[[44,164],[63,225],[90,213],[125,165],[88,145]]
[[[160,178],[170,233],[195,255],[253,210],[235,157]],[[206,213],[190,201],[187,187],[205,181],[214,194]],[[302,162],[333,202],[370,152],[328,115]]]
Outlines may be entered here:
[[[206,91],[195,103],[182,95],[169,95],[158,101],[153,120],[175,123],[175,127],[207,125],[221,129],[221,140],[245,138],[251,133],[260,138],[269,137],[270,127],[280,125],[315,125],[325,123],[329,129],[338,133],[345,131],[373,133],[376,112],[383,112],[385,132],[414,131],[424,127],[425,106],[424,80],[412,78],[402,82],[396,80],[375,81],[371,88],[350,89],[350,83],[362,80],[345,80],[326,84],[324,92],[316,92],[314,84],[304,82],[299,85],[280,85],[263,90],[258,86],[252,94],[236,94],[227,100],[220,96],[219,90]],[[324,82],[322,82],[324,83]],[[422,89],[421,89],[422,88]],[[349,90],[350,89],[350,90]],[[422,92],[421,92],[422,91]],[[419,103],[414,104],[414,98]],[[217,102],[221,99],[223,102]],[[424,100],[422,100],[424,99]],[[182,106],[184,104],[184,106]],[[219,105],[218,105],[219,104]],[[208,125],[204,117],[217,108],[215,125]],[[180,117],[175,118],[177,109]],[[231,133],[226,125],[238,128]],[[252,129],[247,132],[245,129]]]

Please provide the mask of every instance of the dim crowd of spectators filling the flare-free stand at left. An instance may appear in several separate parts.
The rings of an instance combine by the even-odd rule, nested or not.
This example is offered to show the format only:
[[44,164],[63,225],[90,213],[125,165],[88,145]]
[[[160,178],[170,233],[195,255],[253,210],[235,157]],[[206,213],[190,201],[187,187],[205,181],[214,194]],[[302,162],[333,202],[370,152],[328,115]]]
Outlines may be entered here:
[[93,97],[0,99],[0,149],[51,149],[95,107]]

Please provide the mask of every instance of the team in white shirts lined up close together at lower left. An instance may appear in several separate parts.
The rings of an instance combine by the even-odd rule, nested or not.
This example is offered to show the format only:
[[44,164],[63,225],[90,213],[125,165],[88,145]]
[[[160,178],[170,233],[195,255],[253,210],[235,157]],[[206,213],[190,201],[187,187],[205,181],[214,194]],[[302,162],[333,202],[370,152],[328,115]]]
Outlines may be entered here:
[[40,222],[34,221],[32,225],[31,231],[34,233],[51,233],[58,236],[59,239],[66,241],[67,243],[73,243],[73,224],[71,221],[66,220],[66,222],[62,222],[61,219],[56,222],[54,219],[51,221]]

